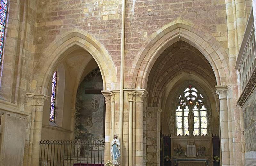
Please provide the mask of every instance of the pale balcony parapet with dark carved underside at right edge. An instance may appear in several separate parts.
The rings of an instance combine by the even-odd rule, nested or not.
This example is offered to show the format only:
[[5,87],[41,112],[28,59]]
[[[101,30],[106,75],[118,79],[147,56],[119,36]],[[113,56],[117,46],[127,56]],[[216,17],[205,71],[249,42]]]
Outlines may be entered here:
[[240,71],[241,96],[238,104],[242,106],[255,86],[256,76],[256,41],[253,12],[248,19],[244,38],[237,56],[235,68]]

